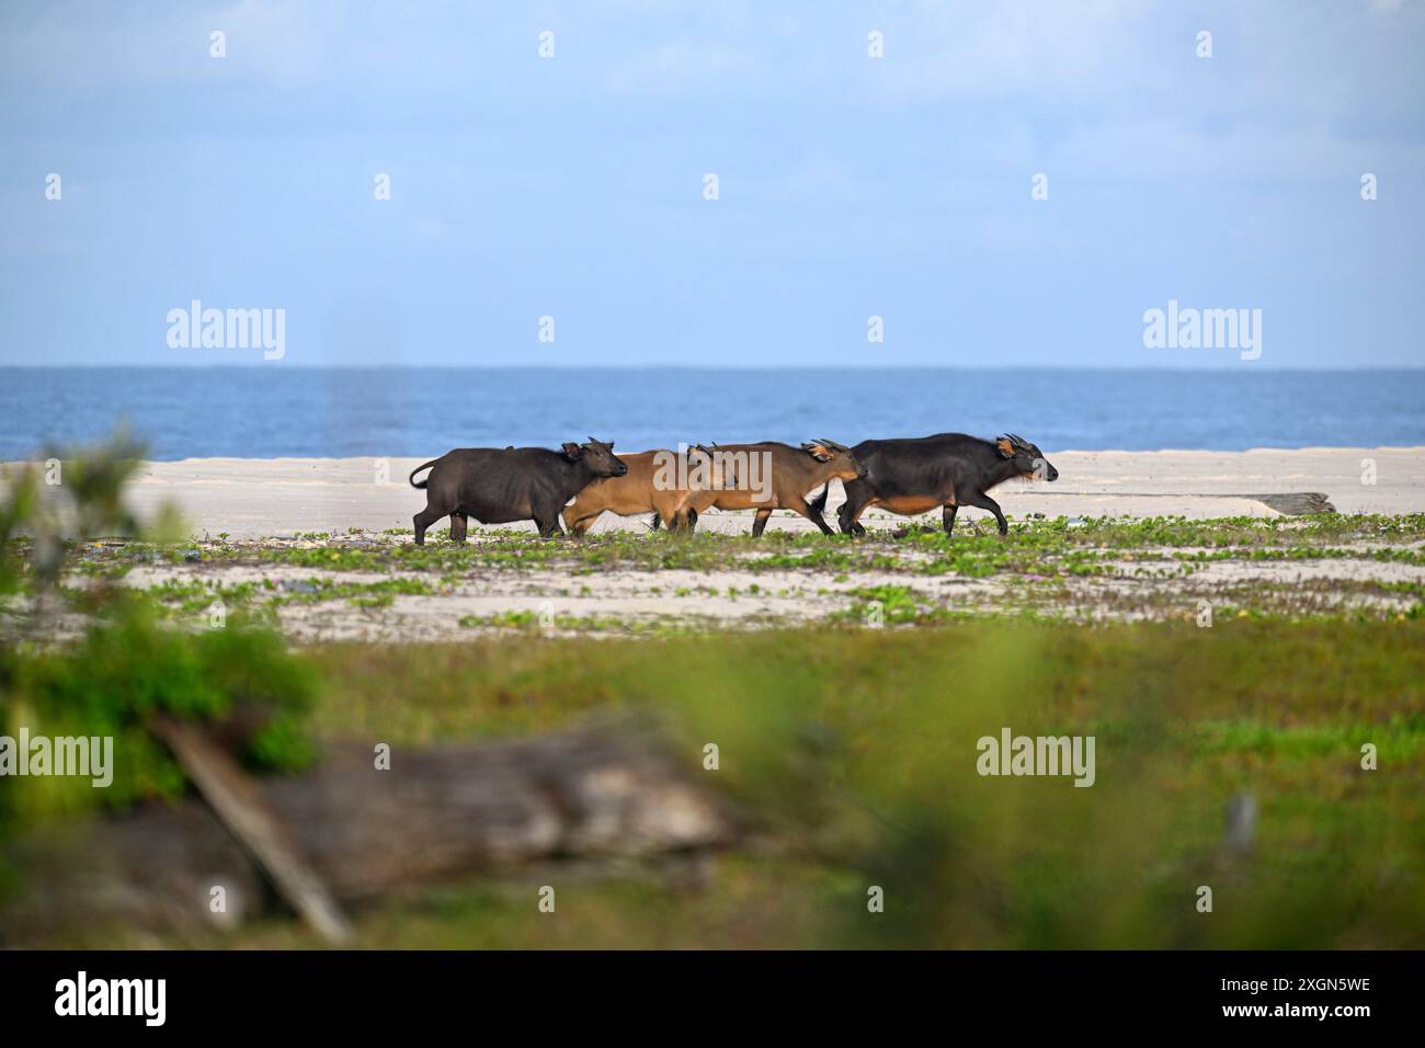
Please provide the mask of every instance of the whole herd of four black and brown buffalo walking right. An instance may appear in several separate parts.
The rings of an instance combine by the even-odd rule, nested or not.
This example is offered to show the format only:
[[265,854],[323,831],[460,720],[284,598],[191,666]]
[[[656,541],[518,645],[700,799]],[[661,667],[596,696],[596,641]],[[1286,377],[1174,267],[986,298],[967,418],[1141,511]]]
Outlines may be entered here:
[[[422,482],[416,473],[429,469]],[[846,500],[838,510],[841,530],[865,532],[861,513],[881,506],[892,513],[942,509],[945,532],[960,506],[988,509],[1005,535],[1009,525],[989,490],[1010,478],[1054,481],[1054,469],[1033,443],[1015,433],[982,441],[965,433],[916,439],[788,443],[694,445],[678,451],[614,455],[613,442],[589,439],[547,448],[457,448],[418,466],[410,485],[426,492],[416,513],[416,543],[426,529],[450,518],[450,538],[465,542],[473,518],[480,523],[533,520],[543,536],[564,526],[583,535],[603,512],[653,513],[653,526],[691,532],[708,508],[752,509],[752,535],[767,528],[774,509],[791,509],[826,535],[822,518],[831,481],[841,481]],[[821,489],[815,498],[812,492]]]

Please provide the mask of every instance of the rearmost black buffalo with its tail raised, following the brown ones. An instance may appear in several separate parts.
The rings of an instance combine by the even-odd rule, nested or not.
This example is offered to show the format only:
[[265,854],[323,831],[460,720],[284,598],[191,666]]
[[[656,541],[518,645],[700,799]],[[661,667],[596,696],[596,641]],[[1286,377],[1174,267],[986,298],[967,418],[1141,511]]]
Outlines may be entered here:
[[[430,476],[416,483],[416,473]],[[426,528],[450,515],[450,539],[465,542],[470,518],[480,523],[533,520],[544,538],[559,535],[564,505],[603,476],[628,472],[610,441],[549,448],[456,448],[410,471],[410,486],[426,489],[426,508],[416,513],[416,545]]]

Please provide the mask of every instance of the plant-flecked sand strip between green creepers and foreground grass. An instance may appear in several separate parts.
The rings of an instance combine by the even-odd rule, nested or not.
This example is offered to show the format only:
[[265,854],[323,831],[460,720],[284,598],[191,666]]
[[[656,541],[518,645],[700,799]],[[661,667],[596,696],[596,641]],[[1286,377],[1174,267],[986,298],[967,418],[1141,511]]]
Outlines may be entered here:
[[[271,542],[271,540],[269,540]],[[1416,548],[1418,549],[1418,548]],[[1352,583],[1425,583],[1425,566],[1371,559],[1213,560],[1184,566],[1170,559],[1184,550],[1157,550],[1163,560],[1109,560],[1103,575],[965,577],[906,572],[754,572],[742,563],[701,572],[611,569],[571,577],[567,570],[512,572],[473,569],[436,580],[420,572],[329,572],[281,563],[161,563],[134,567],[124,583],[147,589],[162,583],[219,587],[258,583],[258,602],[269,596],[312,595],[318,583],[379,583],[420,579],[439,589],[400,595],[385,606],[346,597],[298,599],[276,609],[282,632],[295,642],[449,642],[476,633],[507,633],[502,616],[524,615],[516,627],[536,625],[544,635],[660,629],[758,629],[825,622],[828,616],[864,619],[874,587],[911,592],[929,613],[1020,613],[1070,620],[1183,620],[1203,602],[1231,615],[1231,607],[1301,615],[1359,609],[1375,616],[1406,613],[1412,593],[1388,593]],[[1188,567],[1190,570],[1184,570]],[[208,597],[180,620],[202,626]]]

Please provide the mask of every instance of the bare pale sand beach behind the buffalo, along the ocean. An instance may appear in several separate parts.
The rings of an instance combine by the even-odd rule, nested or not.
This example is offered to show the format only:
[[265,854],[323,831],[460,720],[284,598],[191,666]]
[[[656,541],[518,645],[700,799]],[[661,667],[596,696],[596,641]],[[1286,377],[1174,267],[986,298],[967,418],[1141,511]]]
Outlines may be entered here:
[[[1064,516],[1190,518],[1274,516],[1264,503],[1241,498],[1255,493],[1321,492],[1344,513],[1409,513],[1425,510],[1425,448],[1302,448],[1247,452],[1059,452],[1056,483],[1010,482],[995,490],[1015,518]],[[194,533],[232,538],[279,538],[298,532],[341,532],[359,528],[410,528],[425,506],[425,493],[406,485],[423,459],[184,459],[145,462],[131,488],[131,505],[148,516],[175,502]],[[1367,483],[1374,462],[1375,482]],[[841,503],[832,485],[829,509]],[[962,519],[988,516],[960,510]],[[700,526],[742,532],[751,512],[707,513]],[[868,526],[889,526],[908,518],[869,512]],[[832,513],[828,520],[834,522]],[[473,528],[472,522],[472,528]],[[445,525],[437,525],[437,533]],[[533,530],[533,525],[527,525]],[[596,529],[643,530],[643,518],[606,515]],[[777,513],[770,528],[808,530],[812,525]]]

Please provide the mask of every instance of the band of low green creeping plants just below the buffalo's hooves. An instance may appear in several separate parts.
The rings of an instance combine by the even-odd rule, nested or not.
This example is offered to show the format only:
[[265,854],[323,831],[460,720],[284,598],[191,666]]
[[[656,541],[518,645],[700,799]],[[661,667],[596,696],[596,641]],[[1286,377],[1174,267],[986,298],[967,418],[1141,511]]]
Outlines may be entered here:
[[[299,536],[299,543],[200,543],[198,560],[208,565],[247,563],[312,567],[331,572],[527,572],[559,569],[594,573],[627,570],[750,572],[906,572],[985,577],[998,573],[1040,576],[1093,575],[1119,563],[1143,563],[1166,570],[1191,570],[1213,560],[1318,560],[1358,558],[1387,563],[1425,565],[1425,515],[1405,516],[1324,513],[1307,518],[1224,518],[1188,520],[1019,522],[1000,539],[983,522],[956,528],[948,538],[938,526],[912,523],[866,536],[825,538],[819,533],[767,532],[761,539],[705,532],[677,536],[601,532],[583,540],[539,539],[529,532],[492,530],[472,535],[466,545],[439,535],[425,546],[402,535]],[[1348,545],[1342,545],[1348,543]],[[88,570],[123,573],[152,556],[181,560],[172,549],[130,546],[98,549]]]

